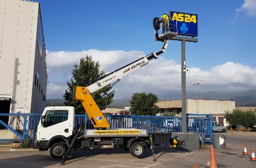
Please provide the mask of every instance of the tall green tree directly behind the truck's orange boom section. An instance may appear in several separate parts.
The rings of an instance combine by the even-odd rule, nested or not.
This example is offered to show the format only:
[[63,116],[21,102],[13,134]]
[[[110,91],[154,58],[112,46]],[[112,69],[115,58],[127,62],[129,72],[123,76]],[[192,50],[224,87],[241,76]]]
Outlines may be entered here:
[[[91,83],[96,82],[97,79],[100,79],[103,75],[105,75],[105,72],[100,71],[100,64],[93,61],[91,56],[87,55],[85,58],[81,58],[80,63],[74,65],[71,81],[66,82],[67,90],[63,95],[65,98],[64,104],[66,106],[74,106],[76,114],[85,113],[81,101],[72,99],[73,88],[75,86],[86,87]],[[106,109],[106,106],[113,101],[114,90],[110,91],[112,87],[109,86],[110,85],[107,85],[100,90],[91,93],[100,110]],[[101,93],[105,93],[105,95],[101,97]]]

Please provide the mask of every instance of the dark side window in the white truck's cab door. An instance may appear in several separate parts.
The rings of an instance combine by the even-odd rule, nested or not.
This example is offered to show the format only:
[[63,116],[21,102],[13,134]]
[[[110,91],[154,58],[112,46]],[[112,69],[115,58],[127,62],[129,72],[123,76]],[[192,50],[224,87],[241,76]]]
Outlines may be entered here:
[[45,113],[44,127],[50,127],[60,122],[67,121],[68,110],[48,110]]

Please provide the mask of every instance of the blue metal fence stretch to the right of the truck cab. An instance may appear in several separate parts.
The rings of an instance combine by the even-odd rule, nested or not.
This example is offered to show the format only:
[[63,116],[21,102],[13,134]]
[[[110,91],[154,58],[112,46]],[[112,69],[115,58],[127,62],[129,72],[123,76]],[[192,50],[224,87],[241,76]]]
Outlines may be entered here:
[[[105,115],[110,128],[138,128],[148,132],[182,132],[181,116],[115,116]],[[93,124],[87,115],[76,115],[75,127],[83,123],[87,129]],[[212,115],[187,114],[187,132],[198,133],[204,143],[212,142]]]

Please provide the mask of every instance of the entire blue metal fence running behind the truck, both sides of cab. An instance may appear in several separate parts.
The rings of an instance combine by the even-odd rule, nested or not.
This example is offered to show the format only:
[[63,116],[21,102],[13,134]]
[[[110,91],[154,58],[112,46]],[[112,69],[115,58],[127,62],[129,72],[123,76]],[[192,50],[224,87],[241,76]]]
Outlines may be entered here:
[[[9,125],[0,120],[6,129],[17,135],[14,139],[0,139],[3,141],[35,140],[36,128],[41,114],[9,114],[0,113],[1,116],[9,116]],[[105,115],[111,128],[139,128],[148,132],[182,132],[181,116],[114,116]],[[13,118],[16,120],[13,120]],[[85,128],[91,129],[93,125],[87,115],[75,116],[75,130],[79,125],[85,124]],[[198,133],[205,143],[212,142],[212,115],[187,114],[187,132]]]

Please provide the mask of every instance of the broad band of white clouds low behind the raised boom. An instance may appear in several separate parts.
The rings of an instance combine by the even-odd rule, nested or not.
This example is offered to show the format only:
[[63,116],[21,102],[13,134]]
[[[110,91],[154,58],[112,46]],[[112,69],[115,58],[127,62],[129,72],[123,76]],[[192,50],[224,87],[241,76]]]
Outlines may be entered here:
[[[161,97],[167,94],[181,95],[181,65],[172,59],[164,58],[150,61],[133,73],[128,74],[113,86],[116,92],[114,99],[131,97],[134,93],[153,93]],[[143,56],[142,51],[98,51],[81,52],[47,52],[46,66],[48,68],[47,99],[60,98],[65,93],[66,82],[71,79],[71,72],[75,63],[86,55],[99,61],[101,69],[107,73],[116,71]],[[198,92],[218,91],[234,92],[255,89],[256,69],[241,63],[227,62],[212,67],[210,71],[202,71],[198,67],[188,67],[186,72],[187,93],[195,91],[193,83],[200,82]]]

